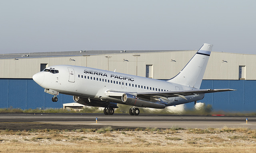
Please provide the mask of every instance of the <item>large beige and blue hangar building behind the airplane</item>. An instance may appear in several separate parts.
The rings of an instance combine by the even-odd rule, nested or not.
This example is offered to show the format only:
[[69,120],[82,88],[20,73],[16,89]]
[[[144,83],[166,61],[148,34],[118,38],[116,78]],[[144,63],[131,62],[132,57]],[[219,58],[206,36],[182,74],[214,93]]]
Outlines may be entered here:
[[[182,51],[68,51],[0,54],[0,108],[62,108],[73,102],[60,94],[58,102],[44,92],[32,76],[53,65],[77,65],[141,77],[170,79],[177,75],[196,50]],[[231,88],[232,92],[206,94],[214,110],[256,111],[256,55],[212,52],[201,89]],[[193,106],[194,103],[186,104]],[[173,107],[173,106],[170,106]]]

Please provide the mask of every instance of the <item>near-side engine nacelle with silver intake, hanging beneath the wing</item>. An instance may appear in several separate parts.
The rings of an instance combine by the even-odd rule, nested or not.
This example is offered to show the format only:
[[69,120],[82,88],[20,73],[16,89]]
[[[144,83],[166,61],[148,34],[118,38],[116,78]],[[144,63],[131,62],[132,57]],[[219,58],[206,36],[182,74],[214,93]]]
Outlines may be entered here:
[[159,109],[165,108],[165,104],[162,104],[157,100],[152,102],[152,100],[148,101],[146,99],[138,98],[131,94],[123,94],[122,102],[124,102],[127,105],[137,106],[137,107],[149,107],[149,108],[159,108]]

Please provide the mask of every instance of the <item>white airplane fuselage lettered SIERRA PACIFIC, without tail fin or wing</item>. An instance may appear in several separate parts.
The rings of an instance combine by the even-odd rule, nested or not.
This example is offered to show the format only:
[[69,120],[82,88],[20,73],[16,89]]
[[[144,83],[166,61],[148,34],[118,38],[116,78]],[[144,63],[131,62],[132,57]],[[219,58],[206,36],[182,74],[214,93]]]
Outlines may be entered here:
[[[58,70],[58,73],[42,71],[33,76],[33,79],[45,89],[51,89],[62,94],[120,104],[124,104],[120,98],[106,96],[105,92],[108,90],[128,93],[163,92],[196,89],[164,80],[138,77],[89,67],[56,65],[46,69]],[[166,103],[166,106],[173,106],[201,100],[203,97],[204,94],[195,94],[186,96],[187,100],[178,96],[168,98],[168,100],[161,100]]]

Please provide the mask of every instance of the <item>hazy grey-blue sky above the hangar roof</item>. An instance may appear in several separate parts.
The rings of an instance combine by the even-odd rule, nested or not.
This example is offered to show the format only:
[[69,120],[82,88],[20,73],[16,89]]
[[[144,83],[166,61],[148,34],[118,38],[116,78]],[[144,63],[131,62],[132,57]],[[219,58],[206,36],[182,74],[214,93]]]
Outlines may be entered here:
[[0,0],[0,54],[186,50],[256,54],[256,0]]

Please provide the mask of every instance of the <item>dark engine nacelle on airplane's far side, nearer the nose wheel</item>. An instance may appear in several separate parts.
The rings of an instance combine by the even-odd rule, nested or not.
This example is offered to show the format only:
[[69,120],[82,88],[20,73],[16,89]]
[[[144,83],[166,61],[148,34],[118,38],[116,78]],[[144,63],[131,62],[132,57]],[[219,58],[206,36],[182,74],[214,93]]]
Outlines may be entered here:
[[[79,104],[85,105],[85,106],[93,106],[93,107],[108,107],[108,103],[105,101],[100,101],[100,100],[94,100],[88,98],[83,98],[83,97],[78,97],[78,96],[73,96],[73,100]],[[114,102],[110,102],[109,106],[111,108],[118,108],[117,104]]]

